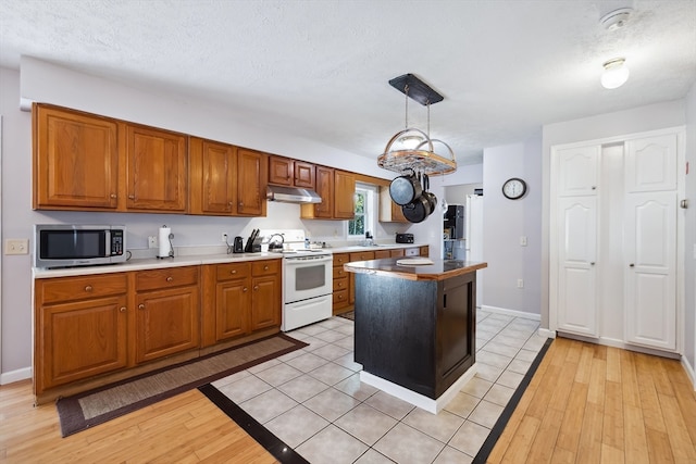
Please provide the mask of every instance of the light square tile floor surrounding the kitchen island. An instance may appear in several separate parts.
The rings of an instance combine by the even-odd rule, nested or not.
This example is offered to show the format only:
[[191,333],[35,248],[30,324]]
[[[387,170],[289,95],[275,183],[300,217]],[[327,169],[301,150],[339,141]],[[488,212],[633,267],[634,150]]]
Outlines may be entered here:
[[353,323],[287,333],[301,350],[213,383],[312,464],[470,463],[546,338],[538,322],[477,312],[477,374],[439,414],[361,384]]

